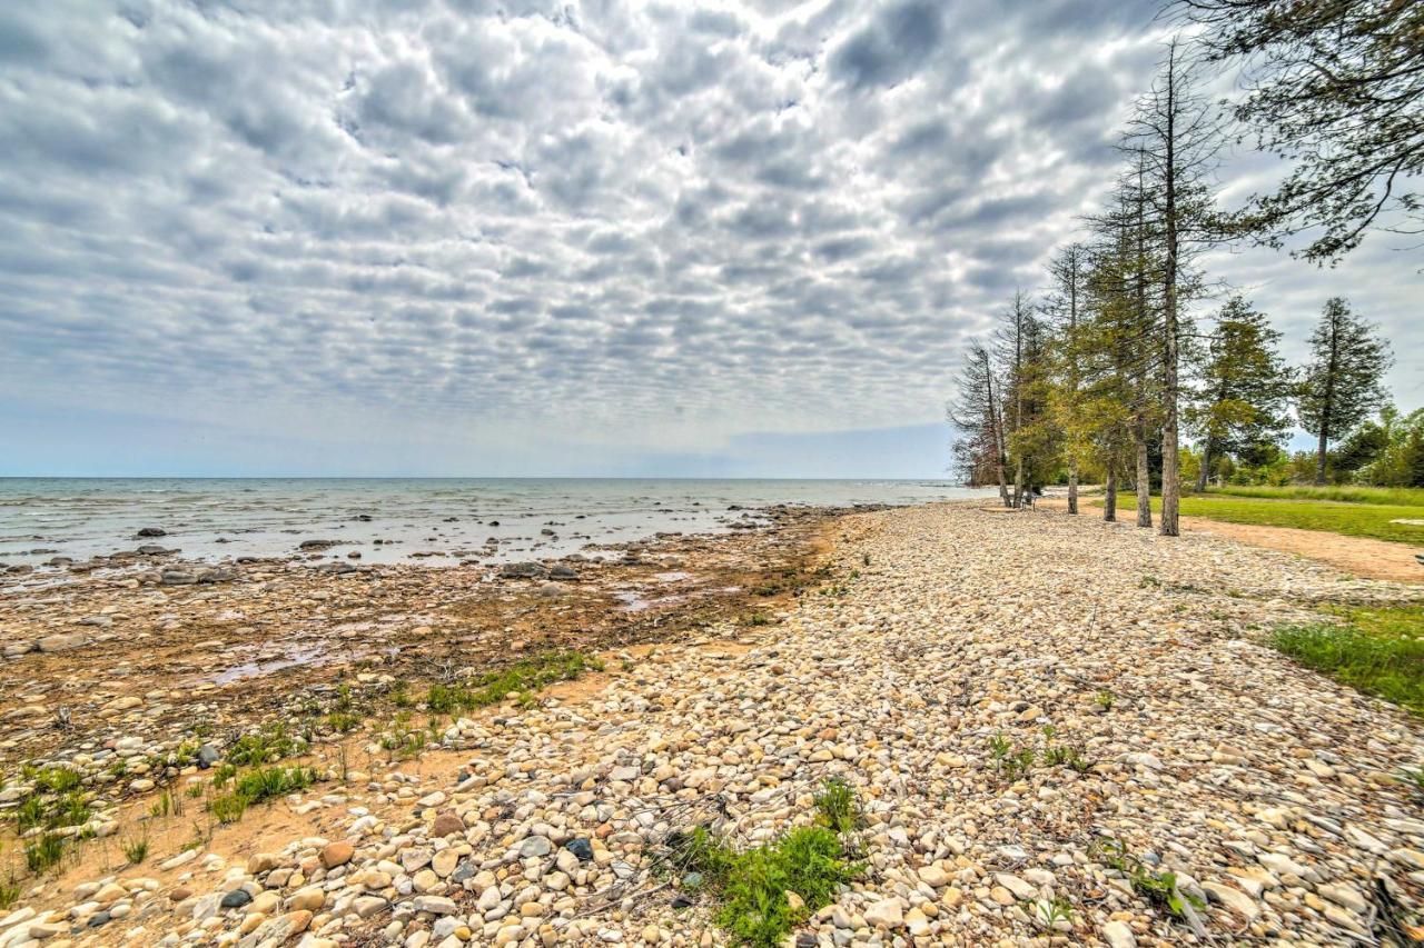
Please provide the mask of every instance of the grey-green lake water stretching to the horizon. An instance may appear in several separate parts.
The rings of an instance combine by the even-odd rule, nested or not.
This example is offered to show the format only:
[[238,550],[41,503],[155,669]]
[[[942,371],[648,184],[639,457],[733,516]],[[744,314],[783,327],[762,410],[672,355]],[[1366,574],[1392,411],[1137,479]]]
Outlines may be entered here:
[[[305,539],[339,541],[326,557],[402,562],[434,551],[419,559],[449,564],[490,537],[500,541],[493,561],[550,558],[659,531],[722,532],[773,504],[988,494],[933,480],[0,478],[0,565],[140,544],[189,559],[281,557]],[[167,535],[138,538],[144,527]]]

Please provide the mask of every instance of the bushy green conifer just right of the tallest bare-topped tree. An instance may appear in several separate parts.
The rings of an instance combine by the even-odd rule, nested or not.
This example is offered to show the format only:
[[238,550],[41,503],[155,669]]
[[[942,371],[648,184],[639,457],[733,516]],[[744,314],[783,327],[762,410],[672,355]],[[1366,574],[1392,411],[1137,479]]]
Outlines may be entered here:
[[1206,363],[1188,420],[1200,434],[1196,490],[1206,490],[1212,460],[1222,454],[1259,454],[1277,444],[1290,426],[1286,413],[1292,373],[1276,352],[1280,333],[1240,296],[1216,316]]

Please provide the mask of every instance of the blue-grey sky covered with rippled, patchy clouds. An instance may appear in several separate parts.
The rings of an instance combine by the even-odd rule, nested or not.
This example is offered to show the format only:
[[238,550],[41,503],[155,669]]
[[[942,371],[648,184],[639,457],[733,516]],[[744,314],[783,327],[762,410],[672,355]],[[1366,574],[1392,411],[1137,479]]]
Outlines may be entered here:
[[[944,477],[1156,9],[0,4],[0,474]],[[1202,265],[1293,360],[1347,296],[1424,404],[1417,238]]]

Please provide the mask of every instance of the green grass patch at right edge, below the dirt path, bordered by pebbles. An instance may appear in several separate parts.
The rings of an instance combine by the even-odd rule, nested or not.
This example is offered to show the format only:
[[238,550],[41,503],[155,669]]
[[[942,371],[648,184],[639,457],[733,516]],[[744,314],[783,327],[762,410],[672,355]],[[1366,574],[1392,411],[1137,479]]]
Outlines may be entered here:
[[1272,645],[1306,668],[1424,715],[1424,606],[1336,615],[1341,623],[1280,626]]

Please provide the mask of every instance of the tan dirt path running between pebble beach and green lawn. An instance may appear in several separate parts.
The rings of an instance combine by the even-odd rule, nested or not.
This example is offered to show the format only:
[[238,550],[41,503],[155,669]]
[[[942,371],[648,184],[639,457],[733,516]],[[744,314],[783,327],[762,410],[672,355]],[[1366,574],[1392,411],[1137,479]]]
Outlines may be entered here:
[[[1045,510],[1067,510],[1068,501],[1048,497],[1038,501]],[[1085,508],[1101,517],[1102,500],[1085,498]],[[1132,511],[1118,511],[1119,522],[1132,522]],[[1260,524],[1229,524],[1206,517],[1183,517],[1182,530],[1188,532],[1212,534],[1236,539],[1252,547],[1279,549],[1306,559],[1330,564],[1356,576],[1367,579],[1391,579],[1394,582],[1424,584],[1424,567],[1414,559],[1420,552],[1408,544],[1391,544],[1367,537],[1344,537],[1321,530],[1296,530],[1294,527],[1263,527]]]

